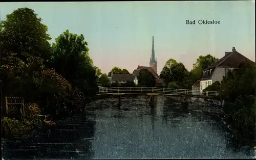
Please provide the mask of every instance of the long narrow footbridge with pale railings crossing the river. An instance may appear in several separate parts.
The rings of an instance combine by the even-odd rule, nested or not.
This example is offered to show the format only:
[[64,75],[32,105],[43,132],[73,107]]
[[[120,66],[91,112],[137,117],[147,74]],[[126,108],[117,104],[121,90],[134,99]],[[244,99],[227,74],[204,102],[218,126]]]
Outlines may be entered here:
[[124,94],[147,94],[147,95],[169,95],[169,96],[189,96],[196,98],[209,98],[215,99],[219,97],[219,92],[216,91],[193,91],[186,89],[173,89],[173,88],[156,88],[156,87],[112,87],[103,88],[99,87],[97,95],[124,95]]

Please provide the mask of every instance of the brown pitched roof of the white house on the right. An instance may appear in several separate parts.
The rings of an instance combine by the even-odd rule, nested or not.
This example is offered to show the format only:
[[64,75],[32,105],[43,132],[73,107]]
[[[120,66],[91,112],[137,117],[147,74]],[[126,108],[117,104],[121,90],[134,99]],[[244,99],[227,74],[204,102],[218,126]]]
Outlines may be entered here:
[[249,60],[248,58],[240,54],[236,49],[234,49],[234,47],[232,50],[233,51],[231,52],[225,52],[224,57],[222,57],[220,60],[218,60],[214,64],[205,68],[204,71],[211,69],[211,74],[202,75],[201,80],[210,79],[216,67],[238,68],[241,63],[255,66],[255,62]]

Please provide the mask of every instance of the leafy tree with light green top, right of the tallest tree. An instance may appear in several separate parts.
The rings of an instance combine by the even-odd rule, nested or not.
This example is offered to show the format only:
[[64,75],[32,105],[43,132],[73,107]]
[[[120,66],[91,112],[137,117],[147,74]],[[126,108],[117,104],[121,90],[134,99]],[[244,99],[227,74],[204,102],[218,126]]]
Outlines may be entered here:
[[66,30],[53,43],[50,66],[74,87],[91,96],[97,91],[97,77],[87,45],[83,35],[72,34]]

